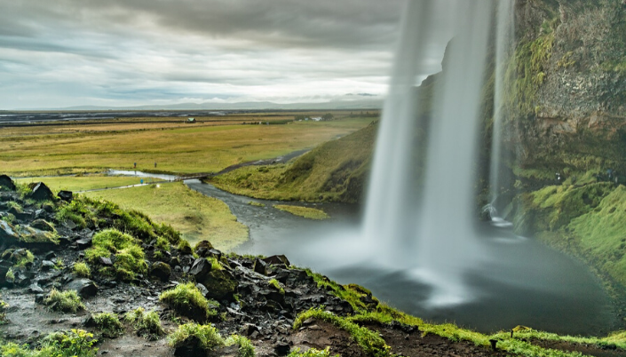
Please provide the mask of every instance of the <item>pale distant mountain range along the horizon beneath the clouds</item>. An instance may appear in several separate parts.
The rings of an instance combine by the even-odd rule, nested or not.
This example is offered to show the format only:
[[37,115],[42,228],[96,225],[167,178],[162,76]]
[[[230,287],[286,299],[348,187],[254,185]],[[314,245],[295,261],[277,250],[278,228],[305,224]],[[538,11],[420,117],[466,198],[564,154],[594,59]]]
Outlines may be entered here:
[[383,107],[383,99],[363,99],[329,101],[324,103],[273,103],[269,101],[251,101],[241,103],[180,103],[162,106],[136,106],[136,107],[99,107],[80,106],[46,108],[38,110],[58,110],[58,111],[97,111],[97,110],[337,110],[337,109],[379,109]]

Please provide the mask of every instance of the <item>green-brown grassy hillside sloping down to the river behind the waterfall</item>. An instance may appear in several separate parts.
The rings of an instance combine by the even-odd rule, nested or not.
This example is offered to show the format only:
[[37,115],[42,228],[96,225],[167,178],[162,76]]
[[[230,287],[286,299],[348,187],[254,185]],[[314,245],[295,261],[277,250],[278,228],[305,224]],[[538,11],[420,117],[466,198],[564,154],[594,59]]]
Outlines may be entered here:
[[250,166],[210,179],[234,194],[281,201],[359,202],[376,123],[341,139],[331,140],[293,163]]

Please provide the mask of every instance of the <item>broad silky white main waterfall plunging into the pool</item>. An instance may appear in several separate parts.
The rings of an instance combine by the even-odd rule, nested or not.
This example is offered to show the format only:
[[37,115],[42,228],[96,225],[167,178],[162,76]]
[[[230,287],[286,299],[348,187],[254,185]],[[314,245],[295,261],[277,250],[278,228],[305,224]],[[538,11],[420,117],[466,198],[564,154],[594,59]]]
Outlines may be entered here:
[[[496,3],[507,4],[495,12]],[[508,19],[511,11],[508,0],[409,1],[402,21],[376,141],[363,234],[376,246],[379,262],[413,271],[431,283],[432,304],[458,303],[471,295],[463,281],[480,260],[473,231],[481,91],[494,17]],[[498,33],[503,22],[497,22]],[[416,187],[413,153],[420,109],[416,82],[424,75],[429,39],[433,28],[442,30],[440,23],[448,24],[443,30],[454,40],[435,83],[426,151],[419,153],[425,158],[424,183],[420,194],[411,194]],[[498,43],[505,42],[496,37]]]

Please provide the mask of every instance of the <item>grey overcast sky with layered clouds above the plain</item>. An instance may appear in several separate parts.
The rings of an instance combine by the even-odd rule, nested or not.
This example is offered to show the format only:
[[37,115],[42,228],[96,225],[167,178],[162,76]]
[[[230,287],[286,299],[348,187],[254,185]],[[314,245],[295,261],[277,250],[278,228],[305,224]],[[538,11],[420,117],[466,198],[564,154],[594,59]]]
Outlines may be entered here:
[[0,109],[381,96],[404,5],[0,0]]

